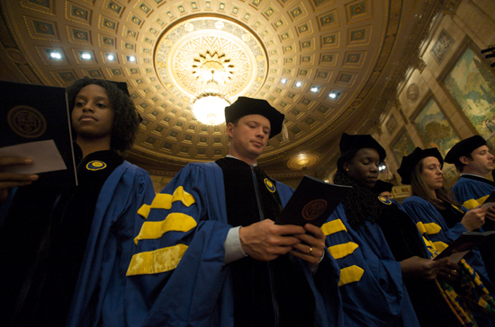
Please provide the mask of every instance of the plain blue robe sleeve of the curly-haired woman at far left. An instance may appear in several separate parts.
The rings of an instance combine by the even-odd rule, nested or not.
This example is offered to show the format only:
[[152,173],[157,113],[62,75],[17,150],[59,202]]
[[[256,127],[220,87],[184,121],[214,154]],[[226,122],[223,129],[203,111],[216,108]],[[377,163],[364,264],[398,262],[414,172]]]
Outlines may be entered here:
[[67,326],[124,326],[125,271],[135,252],[137,211],[155,196],[148,172],[124,161],[104,182]]

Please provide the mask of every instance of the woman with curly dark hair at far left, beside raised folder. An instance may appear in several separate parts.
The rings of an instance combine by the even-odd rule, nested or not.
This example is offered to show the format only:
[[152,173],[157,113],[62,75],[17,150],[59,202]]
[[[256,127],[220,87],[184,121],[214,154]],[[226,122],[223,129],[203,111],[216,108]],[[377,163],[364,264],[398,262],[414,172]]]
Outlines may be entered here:
[[[31,208],[31,215],[12,212],[18,194],[10,204],[0,228],[0,243],[8,249],[0,254],[1,311],[7,326],[125,325],[125,270],[142,224],[137,210],[155,195],[148,173],[118,154],[130,149],[139,116],[130,98],[104,80],[77,80],[67,89],[67,99],[73,108],[79,183],[49,203],[53,208],[43,212],[43,219],[33,203],[21,203]],[[30,163],[15,158],[1,162]],[[35,185],[37,177],[0,172],[0,193],[26,180]],[[35,195],[42,193],[39,189]],[[25,232],[36,220],[45,225],[40,225],[38,243],[32,243]],[[14,270],[33,250],[35,259],[24,267],[28,272]]]

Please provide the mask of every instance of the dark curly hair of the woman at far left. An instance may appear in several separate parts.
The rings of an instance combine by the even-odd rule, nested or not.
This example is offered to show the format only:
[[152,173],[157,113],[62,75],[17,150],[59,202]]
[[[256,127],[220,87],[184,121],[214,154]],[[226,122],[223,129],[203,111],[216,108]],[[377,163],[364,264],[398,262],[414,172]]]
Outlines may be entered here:
[[121,152],[129,150],[139,128],[139,115],[134,102],[117,85],[103,79],[87,77],[76,80],[74,84],[67,88],[67,100],[70,110],[74,109],[77,94],[90,84],[100,85],[105,89],[114,113],[110,147],[112,150]]

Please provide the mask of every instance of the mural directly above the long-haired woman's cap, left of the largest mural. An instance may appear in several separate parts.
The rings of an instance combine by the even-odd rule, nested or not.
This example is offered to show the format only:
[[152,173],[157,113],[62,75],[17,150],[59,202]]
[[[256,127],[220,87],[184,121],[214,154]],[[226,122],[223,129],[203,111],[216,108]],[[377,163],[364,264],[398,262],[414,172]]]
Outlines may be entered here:
[[414,122],[425,141],[425,145],[437,147],[442,156],[446,156],[448,150],[459,142],[459,138],[449,125],[446,116],[433,99],[427,102]]

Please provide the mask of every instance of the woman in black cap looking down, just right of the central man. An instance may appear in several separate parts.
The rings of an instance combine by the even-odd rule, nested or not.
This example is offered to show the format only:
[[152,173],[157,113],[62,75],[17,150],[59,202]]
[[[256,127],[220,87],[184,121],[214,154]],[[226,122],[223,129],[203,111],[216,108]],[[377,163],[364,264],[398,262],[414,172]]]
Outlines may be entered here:
[[345,325],[461,326],[436,285],[456,266],[431,261],[411,218],[374,192],[383,147],[346,133],[339,146],[334,182],[353,189],[322,230],[341,269]]

